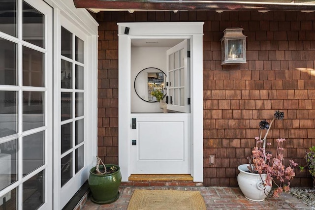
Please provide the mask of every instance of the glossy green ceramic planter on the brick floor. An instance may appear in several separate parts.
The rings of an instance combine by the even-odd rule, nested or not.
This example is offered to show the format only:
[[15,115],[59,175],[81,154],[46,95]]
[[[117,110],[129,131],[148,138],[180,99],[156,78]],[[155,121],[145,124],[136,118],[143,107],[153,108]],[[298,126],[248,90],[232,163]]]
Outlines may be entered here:
[[[122,182],[122,174],[120,167],[117,165],[105,165],[107,169],[115,166],[118,170],[112,174],[95,174],[95,167],[90,170],[89,186],[92,192],[91,200],[96,204],[109,204],[113,203],[119,198],[118,188]],[[103,166],[99,166],[102,170]]]

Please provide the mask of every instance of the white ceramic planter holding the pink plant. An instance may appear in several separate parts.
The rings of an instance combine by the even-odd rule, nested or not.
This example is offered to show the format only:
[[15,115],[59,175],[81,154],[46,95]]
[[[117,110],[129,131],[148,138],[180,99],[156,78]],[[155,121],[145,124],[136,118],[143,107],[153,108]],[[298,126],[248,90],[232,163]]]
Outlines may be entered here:
[[[237,169],[240,173],[237,175],[238,185],[244,194],[244,196],[251,201],[263,201],[269,194],[271,186],[263,186],[262,180],[259,174],[249,173],[247,171],[249,164],[239,165]],[[266,179],[266,175],[261,175],[262,179]]]

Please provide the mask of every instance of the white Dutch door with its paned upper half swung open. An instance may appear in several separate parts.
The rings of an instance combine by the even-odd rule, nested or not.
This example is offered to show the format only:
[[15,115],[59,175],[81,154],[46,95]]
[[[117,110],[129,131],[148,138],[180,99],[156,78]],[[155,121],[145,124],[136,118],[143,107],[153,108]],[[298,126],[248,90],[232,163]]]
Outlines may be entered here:
[[167,108],[178,113],[131,114],[131,174],[191,174],[187,46],[167,51]]

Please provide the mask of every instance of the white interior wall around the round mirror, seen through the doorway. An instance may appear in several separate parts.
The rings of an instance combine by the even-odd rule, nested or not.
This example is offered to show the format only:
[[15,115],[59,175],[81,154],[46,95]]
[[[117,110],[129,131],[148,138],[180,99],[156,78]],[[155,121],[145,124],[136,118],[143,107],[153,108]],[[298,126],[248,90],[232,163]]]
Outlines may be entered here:
[[[146,102],[140,97],[148,95],[148,78],[142,78],[143,89],[139,96],[134,89],[134,80],[137,74],[149,67],[158,68],[166,74],[166,51],[167,47],[132,47],[131,48],[131,113],[162,113],[158,102]],[[137,79],[137,81],[139,81]]]

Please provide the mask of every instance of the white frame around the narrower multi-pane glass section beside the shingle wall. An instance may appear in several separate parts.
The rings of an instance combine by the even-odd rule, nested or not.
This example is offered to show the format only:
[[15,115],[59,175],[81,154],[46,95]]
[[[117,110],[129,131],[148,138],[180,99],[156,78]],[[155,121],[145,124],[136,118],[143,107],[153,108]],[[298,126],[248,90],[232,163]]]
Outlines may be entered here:
[[[85,157],[84,169],[81,176],[84,182],[89,175],[89,170],[95,166],[95,155],[97,154],[97,34],[98,24],[86,9],[77,9],[73,1],[69,0],[46,0],[54,8],[54,86],[60,84],[61,68],[61,27],[63,20],[75,26],[87,36],[85,40]],[[54,96],[59,93],[60,88],[54,87]],[[59,101],[54,101],[54,118],[60,119],[61,107]],[[61,175],[60,175],[60,131],[59,120],[54,120],[54,171],[53,171],[53,207],[56,210],[62,209],[73,195],[69,193],[67,198],[61,198]],[[78,183],[75,183],[76,185]],[[77,186],[75,186],[77,187]]]

